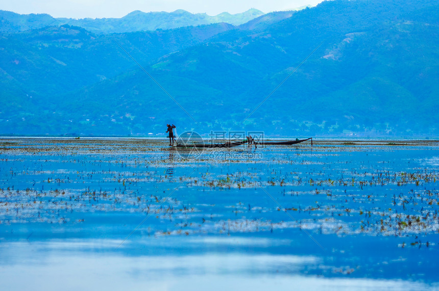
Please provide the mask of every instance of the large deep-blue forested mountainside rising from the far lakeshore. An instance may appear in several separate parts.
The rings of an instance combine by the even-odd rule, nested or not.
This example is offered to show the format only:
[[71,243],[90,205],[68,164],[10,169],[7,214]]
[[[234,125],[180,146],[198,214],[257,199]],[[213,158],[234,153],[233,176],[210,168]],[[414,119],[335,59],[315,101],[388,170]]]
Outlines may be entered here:
[[146,136],[172,122],[177,133],[437,138],[437,15],[430,0],[335,0],[238,26],[5,35],[0,133]]

